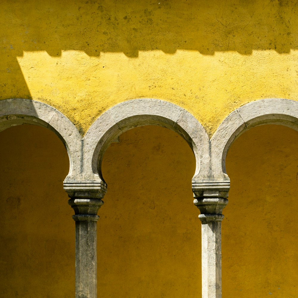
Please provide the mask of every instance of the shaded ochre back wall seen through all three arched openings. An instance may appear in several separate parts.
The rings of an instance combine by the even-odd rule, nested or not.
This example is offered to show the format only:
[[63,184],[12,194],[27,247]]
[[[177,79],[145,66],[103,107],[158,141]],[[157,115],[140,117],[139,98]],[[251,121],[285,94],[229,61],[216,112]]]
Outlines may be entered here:
[[[75,223],[62,181],[69,161],[45,128],[0,133],[3,297],[74,297]],[[223,298],[297,297],[298,133],[263,125],[230,148],[222,228]],[[99,297],[200,297],[195,160],[176,133],[145,126],[108,148],[98,222]]]

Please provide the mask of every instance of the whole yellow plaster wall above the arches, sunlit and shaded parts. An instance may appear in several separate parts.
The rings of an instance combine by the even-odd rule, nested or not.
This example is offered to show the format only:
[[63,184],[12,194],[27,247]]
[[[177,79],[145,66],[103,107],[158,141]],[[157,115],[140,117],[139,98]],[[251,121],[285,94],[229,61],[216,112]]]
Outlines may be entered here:
[[296,100],[295,1],[2,1],[0,98],[63,112],[84,134],[108,108],[152,97],[212,135],[234,109]]

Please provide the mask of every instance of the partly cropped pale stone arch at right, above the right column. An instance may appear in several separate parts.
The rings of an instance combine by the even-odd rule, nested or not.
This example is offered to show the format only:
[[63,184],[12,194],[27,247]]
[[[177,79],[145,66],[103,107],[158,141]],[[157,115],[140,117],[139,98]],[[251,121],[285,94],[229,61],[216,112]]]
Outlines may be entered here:
[[263,124],[280,124],[298,131],[298,102],[272,98],[247,103],[224,119],[211,139],[211,168],[215,180],[229,180],[226,154],[245,131]]

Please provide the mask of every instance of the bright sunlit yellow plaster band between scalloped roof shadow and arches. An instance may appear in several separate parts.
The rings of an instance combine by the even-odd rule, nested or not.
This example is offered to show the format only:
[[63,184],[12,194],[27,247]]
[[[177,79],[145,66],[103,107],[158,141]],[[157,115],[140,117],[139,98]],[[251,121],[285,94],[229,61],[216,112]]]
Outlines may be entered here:
[[149,97],[190,111],[212,134],[239,106],[261,98],[298,99],[298,51],[216,52],[177,50],[90,57],[84,52],[24,52],[18,57],[31,97],[62,111],[86,132],[94,120],[124,100]]

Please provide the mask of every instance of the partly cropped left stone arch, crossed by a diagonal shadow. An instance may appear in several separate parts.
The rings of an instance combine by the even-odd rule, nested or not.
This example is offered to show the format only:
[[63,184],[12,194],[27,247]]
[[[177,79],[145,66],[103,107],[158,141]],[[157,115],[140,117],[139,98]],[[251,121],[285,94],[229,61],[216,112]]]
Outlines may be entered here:
[[76,179],[81,167],[81,136],[75,125],[57,109],[35,100],[13,98],[0,101],[0,131],[10,126],[33,124],[53,131],[69,156],[67,179]]

